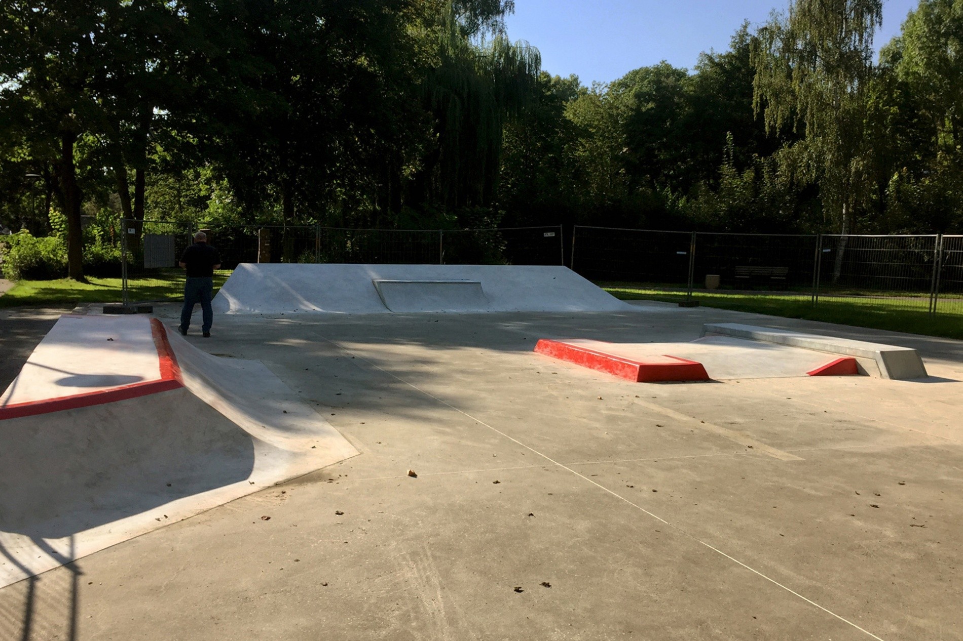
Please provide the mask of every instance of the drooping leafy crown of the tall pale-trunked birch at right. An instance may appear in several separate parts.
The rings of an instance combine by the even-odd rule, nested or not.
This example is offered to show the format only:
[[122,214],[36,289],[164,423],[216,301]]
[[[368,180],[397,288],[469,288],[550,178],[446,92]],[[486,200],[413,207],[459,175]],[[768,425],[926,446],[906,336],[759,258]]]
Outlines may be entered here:
[[750,53],[753,107],[767,133],[791,127],[801,135],[777,154],[780,165],[819,185],[826,222],[843,234],[871,192],[863,134],[881,24],[881,0],[795,0],[759,30]]

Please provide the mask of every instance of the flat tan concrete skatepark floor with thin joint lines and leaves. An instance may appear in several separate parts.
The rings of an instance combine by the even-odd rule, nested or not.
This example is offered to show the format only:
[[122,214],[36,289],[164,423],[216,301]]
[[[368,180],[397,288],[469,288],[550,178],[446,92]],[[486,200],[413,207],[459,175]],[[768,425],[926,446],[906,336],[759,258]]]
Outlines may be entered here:
[[[660,385],[531,351],[708,321],[931,376]],[[0,590],[0,639],[963,638],[958,342],[659,304],[213,331],[362,453]]]

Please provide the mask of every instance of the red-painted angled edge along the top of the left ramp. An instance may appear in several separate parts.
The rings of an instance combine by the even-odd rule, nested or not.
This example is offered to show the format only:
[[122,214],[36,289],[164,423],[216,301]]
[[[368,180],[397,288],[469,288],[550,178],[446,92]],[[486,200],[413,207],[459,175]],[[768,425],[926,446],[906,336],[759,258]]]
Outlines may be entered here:
[[154,339],[154,346],[157,347],[160,379],[122,385],[109,390],[84,392],[69,397],[29,400],[22,403],[14,403],[13,405],[6,405],[0,407],[0,421],[18,419],[25,416],[37,416],[39,414],[49,414],[67,409],[77,409],[78,407],[91,407],[91,405],[113,403],[117,400],[145,397],[150,394],[167,392],[184,387],[181,379],[180,366],[177,364],[177,357],[170,348],[168,333],[161,321],[157,319],[150,320],[150,333]]

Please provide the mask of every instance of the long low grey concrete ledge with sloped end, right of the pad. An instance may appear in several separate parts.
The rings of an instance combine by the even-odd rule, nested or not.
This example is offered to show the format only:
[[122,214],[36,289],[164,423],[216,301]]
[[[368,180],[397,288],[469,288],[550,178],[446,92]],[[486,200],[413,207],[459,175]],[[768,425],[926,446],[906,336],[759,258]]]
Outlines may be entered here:
[[916,349],[867,343],[834,336],[820,336],[819,334],[802,334],[785,329],[743,325],[738,322],[707,322],[702,326],[702,335],[716,334],[719,336],[734,336],[750,341],[762,341],[826,351],[832,354],[843,354],[857,358],[872,359],[879,368],[882,378],[908,380],[925,378],[928,374],[923,359]]

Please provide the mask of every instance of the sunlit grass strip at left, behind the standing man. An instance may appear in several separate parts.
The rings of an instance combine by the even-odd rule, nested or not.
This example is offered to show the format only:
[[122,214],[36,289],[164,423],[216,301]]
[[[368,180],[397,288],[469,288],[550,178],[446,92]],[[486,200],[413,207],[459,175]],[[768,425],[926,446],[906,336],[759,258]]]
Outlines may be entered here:
[[[230,270],[219,269],[214,274],[214,292],[221,289]],[[0,296],[0,307],[63,305],[80,303],[120,302],[123,299],[119,278],[88,277],[87,283],[63,278],[60,280],[21,280]],[[130,301],[181,300],[184,296],[184,272],[167,269],[150,278],[130,279]]]

